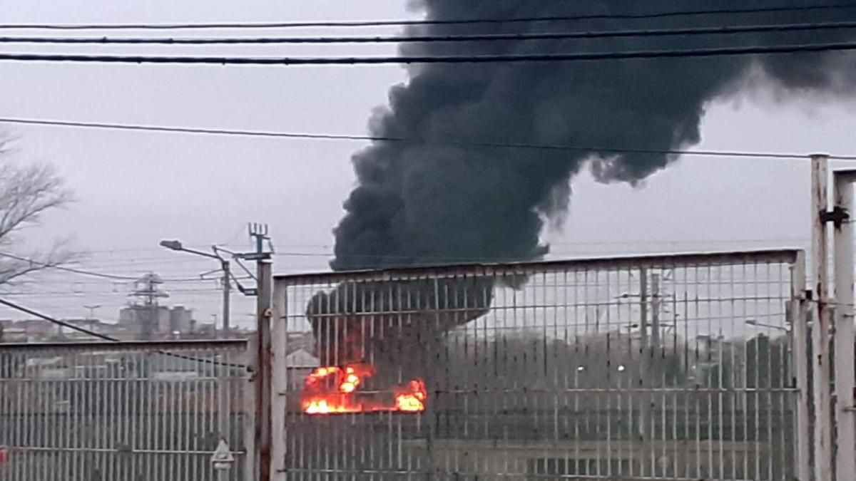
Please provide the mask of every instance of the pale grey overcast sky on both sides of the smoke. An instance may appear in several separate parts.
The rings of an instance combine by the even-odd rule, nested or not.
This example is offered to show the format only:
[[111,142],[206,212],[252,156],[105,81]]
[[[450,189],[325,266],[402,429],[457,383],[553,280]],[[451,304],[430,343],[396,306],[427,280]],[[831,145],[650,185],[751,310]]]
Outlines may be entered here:
[[[223,2],[0,0],[5,23],[107,23],[390,19],[403,2]],[[312,31],[306,31],[312,33]],[[381,31],[372,30],[372,33]],[[386,32],[394,32],[387,30]],[[231,32],[235,33],[235,32]],[[317,32],[316,32],[317,33]],[[326,31],[325,33],[330,33]],[[341,32],[339,32],[341,33]],[[79,33],[75,33],[78,34]],[[188,33],[189,34],[189,33]],[[205,33],[212,35],[214,33]],[[5,51],[255,55],[392,53],[394,47],[9,46]],[[0,116],[206,128],[365,134],[372,107],[404,79],[395,66],[199,67],[0,63]],[[698,149],[830,151],[856,154],[856,104],[776,103],[741,95],[710,105]],[[354,184],[357,142],[244,139],[72,128],[3,128],[20,140],[16,160],[54,163],[79,201],[45,218],[34,245],[72,235],[91,252],[87,269],[131,275],[197,276],[216,265],[165,252],[164,238],[188,245],[247,246],[248,221],[270,223],[277,272],[326,269],[330,229]],[[805,246],[809,232],[807,163],[686,158],[644,186],[574,181],[562,232],[546,232],[556,257],[586,253]],[[312,254],[312,255],[306,255]],[[127,285],[52,275],[10,299],[58,317],[100,304],[112,319]],[[219,310],[213,282],[174,283],[172,303]],[[73,294],[73,293],[78,294]],[[233,317],[246,322],[247,302]],[[18,318],[0,312],[2,318]]]

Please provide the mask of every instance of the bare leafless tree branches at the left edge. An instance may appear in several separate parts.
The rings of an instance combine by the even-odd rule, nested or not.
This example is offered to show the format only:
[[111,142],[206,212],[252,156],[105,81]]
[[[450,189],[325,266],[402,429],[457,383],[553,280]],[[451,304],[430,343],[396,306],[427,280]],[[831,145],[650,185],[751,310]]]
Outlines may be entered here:
[[0,140],[0,286],[77,258],[66,241],[56,241],[46,252],[21,250],[21,231],[38,226],[45,212],[68,205],[73,197],[51,165],[11,163],[5,157],[8,145]]

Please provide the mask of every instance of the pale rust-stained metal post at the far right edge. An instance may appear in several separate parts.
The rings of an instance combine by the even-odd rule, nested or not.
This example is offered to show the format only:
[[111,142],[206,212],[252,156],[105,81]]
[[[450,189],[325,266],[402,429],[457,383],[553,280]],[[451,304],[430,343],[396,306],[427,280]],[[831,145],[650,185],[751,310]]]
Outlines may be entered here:
[[[853,341],[853,181],[856,170],[835,172],[835,473],[846,479],[856,473],[856,425],[853,388],[856,384]],[[847,473],[847,475],[845,475]]]

